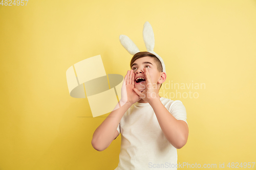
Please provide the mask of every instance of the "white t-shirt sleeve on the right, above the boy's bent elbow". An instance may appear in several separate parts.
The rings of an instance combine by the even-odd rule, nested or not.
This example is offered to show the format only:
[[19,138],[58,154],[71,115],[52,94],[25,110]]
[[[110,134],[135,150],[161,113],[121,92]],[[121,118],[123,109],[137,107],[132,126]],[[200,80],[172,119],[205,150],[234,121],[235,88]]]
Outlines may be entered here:
[[[170,112],[170,114],[172,114],[177,120],[183,120],[184,122],[187,123],[187,112],[186,112],[186,108],[183,105],[183,103],[179,100],[174,101],[168,111]],[[188,126],[188,124],[187,124]]]

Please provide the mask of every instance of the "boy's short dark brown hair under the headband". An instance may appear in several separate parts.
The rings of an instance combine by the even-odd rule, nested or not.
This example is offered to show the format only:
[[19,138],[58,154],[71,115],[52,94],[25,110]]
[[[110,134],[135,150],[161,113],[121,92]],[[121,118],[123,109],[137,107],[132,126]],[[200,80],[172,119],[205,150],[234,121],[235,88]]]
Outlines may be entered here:
[[[154,61],[156,62],[157,64],[157,70],[159,72],[163,72],[163,67],[162,67],[162,64],[161,64],[161,61],[157,58],[157,56],[155,56],[154,54],[150,53],[150,52],[139,52],[139,53],[136,53],[133,58],[131,59],[131,62],[130,62],[130,67],[132,68],[132,64],[135,62],[135,60],[139,59],[139,58],[142,58],[142,57],[153,57],[154,58]],[[161,84],[162,86],[162,84]],[[160,88],[161,88],[160,86]],[[159,88],[159,89],[160,89]]]

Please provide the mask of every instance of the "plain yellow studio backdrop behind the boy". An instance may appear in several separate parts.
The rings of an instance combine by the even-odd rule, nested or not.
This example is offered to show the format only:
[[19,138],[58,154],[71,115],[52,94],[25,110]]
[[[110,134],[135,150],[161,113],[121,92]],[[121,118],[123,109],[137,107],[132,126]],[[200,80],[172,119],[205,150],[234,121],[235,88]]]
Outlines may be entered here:
[[66,71],[101,55],[106,74],[124,77],[132,56],[119,35],[146,51],[145,21],[166,65],[161,96],[187,111],[178,163],[229,169],[229,162],[256,162],[256,1],[2,2],[1,170],[117,167],[121,135],[108,149],[93,149],[92,135],[109,113],[92,117],[87,98],[72,98]]

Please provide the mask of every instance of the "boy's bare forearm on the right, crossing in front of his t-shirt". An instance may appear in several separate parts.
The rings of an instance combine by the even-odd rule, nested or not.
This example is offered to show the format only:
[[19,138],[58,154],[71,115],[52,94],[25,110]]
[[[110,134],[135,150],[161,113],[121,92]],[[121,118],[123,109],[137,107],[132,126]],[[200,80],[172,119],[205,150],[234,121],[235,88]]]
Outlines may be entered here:
[[183,120],[177,120],[159,99],[150,102],[166,139],[177,149],[182,148],[188,138],[188,127]]

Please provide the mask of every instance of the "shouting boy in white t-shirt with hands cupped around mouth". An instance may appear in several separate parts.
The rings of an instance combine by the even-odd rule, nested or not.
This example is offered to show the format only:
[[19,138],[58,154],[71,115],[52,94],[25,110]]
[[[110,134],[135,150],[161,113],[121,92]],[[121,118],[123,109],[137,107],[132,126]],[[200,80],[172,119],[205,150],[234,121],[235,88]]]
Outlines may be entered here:
[[[166,74],[152,53],[136,53],[122,87],[120,108],[95,130],[93,148],[103,151],[121,132],[121,169],[177,169],[177,149],[188,138],[186,109],[181,101],[159,96]],[[117,107],[119,106],[117,104]]]

